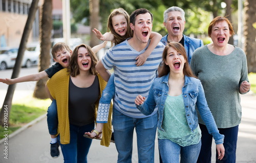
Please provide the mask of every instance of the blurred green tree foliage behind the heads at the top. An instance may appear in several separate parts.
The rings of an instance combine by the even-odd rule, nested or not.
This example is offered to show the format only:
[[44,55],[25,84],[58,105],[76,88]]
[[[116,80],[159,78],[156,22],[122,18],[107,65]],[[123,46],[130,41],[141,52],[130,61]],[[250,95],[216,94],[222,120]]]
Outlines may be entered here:
[[[237,1],[232,0],[232,11],[237,10]],[[123,8],[129,14],[136,9],[146,8],[154,15],[153,31],[166,35],[167,31],[163,25],[163,12],[171,6],[178,6],[185,11],[186,24],[184,34],[194,34],[195,37],[202,34],[207,35],[207,28],[212,19],[210,13],[214,13],[214,16],[224,16],[225,14],[225,9],[221,7],[223,2],[224,0],[100,0],[101,32],[106,32],[109,14],[115,8]],[[89,25],[89,1],[71,0],[71,11],[75,22]]]

